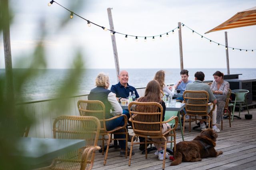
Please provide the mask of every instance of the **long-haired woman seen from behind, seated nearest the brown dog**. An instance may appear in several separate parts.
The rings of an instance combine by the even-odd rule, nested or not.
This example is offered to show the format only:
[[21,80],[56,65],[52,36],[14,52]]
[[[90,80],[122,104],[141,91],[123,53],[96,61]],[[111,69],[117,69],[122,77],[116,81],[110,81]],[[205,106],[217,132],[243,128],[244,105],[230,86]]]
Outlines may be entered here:
[[[139,98],[138,102],[158,102],[158,103],[160,103],[163,107],[162,121],[164,121],[166,106],[165,106],[164,101],[161,98],[160,84],[156,80],[151,80],[150,82],[148,82],[148,84],[146,86],[146,90],[145,90],[145,96]],[[163,123],[162,124],[162,133],[165,133],[167,131],[167,129],[169,129],[169,128],[171,128],[171,127],[168,123]],[[168,141],[168,136],[166,136],[166,139]],[[160,143],[154,143],[154,141],[155,142],[158,142],[158,141],[164,142],[164,140],[163,139],[152,139],[152,141],[157,149],[154,154],[158,156],[159,160],[163,160],[164,159],[164,149]],[[168,153],[166,153],[166,158],[168,158]]]

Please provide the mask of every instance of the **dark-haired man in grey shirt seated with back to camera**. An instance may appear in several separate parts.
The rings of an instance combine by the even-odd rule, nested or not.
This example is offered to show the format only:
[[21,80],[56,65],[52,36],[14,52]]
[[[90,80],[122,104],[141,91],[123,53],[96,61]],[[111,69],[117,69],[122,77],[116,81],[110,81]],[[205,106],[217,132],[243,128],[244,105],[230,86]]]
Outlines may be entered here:
[[[209,102],[216,104],[217,100],[216,100],[216,97],[213,95],[210,86],[208,86],[208,84],[206,84],[206,83],[203,83],[203,81],[204,81],[204,73],[201,71],[196,72],[195,73],[195,81],[193,83],[187,84],[186,90],[206,91],[209,94]],[[210,112],[210,110],[212,108],[213,108],[213,105],[210,105],[210,108],[208,108],[208,112]],[[212,111],[212,129],[215,132],[219,132],[220,129],[218,129],[218,127],[215,124],[216,124],[216,107]],[[201,128],[201,130],[206,129],[206,125],[205,125],[204,121],[200,121],[200,128]]]

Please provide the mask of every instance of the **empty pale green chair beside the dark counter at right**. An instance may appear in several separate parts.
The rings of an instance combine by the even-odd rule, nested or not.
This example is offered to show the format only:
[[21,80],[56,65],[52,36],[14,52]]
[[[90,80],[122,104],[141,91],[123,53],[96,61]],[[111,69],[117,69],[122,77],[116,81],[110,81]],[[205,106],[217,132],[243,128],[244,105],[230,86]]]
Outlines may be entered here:
[[246,108],[247,108],[247,111],[248,111],[248,114],[249,114],[249,109],[248,109],[248,105],[247,105],[247,101],[246,101],[246,94],[248,92],[249,92],[249,90],[244,90],[244,89],[232,90],[232,94],[234,94],[236,96],[235,100],[230,101],[231,104],[234,104],[233,112],[232,112],[232,121],[233,121],[233,118],[234,118],[234,111],[235,111],[236,104],[239,104],[239,116],[235,116],[235,117],[240,118],[240,110],[241,110],[241,107],[242,107],[243,103],[246,103]]

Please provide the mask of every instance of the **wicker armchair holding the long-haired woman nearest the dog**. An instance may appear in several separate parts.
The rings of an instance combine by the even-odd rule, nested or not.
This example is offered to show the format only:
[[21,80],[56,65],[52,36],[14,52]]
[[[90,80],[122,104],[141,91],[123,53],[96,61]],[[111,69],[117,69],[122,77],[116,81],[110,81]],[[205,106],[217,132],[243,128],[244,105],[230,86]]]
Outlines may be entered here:
[[[132,137],[131,151],[129,157],[129,166],[131,165],[132,159],[132,147],[134,144],[145,144],[146,148],[146,158],[148,157],[147,143],[152,143],[150,139],[164,139],[164,155],[166,154],[167,143],[174,143],[173,152],[176,150],[176,132],[175,129],[178,126],[178,117],[172,116],[167,121],[162,121],[163,107],[156,102],[131,102],[128,105],[128,110],[130,112],[130,121],[132,122],[132,128],[134,131],[134,136]],[[168,123],[175,120],[175,125],[173,128],[168,129],[164,134],[162,134],[162,123]],[[172,141],[167,141],[166,136],[173,137]],[[134,137],[144,137],[145,142],[134,142]],[[149,139],[150,138],[150,139]],[[159,142],[163,143],[163,142]],[[165,166],[165,156],[163,160],[164,169]]]

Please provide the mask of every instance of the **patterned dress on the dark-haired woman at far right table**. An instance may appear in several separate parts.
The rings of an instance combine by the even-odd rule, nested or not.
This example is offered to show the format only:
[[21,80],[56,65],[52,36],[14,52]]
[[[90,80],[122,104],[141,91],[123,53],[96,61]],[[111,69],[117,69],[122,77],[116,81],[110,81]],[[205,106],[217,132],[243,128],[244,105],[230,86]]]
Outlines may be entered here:
[[[221,84],[220,88],[218,89],[217,82],[213,81],[212,85],[211,85],[211,89],[212,89],[212,91],[218,90],[218,91],[222,91],[223,94],[227,94],[228,89],[229,89],[229,83],[224,80],[223,83]],[[217,99],[216,122],[218,124],[220,124],[223,119],[223,109],[225,107],[225,104],[226,104],[226,98]]]

